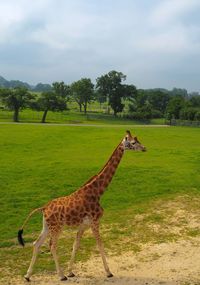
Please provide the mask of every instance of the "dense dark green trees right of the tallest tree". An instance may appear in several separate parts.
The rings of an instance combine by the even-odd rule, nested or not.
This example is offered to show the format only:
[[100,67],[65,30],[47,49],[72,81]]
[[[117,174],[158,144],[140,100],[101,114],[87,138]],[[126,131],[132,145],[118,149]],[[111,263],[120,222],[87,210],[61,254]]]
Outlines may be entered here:
[[149,120],[165,118],[169,122],[175,120],[200,120],[200,94],[188,93],[186,89],[137,90],[137,94],[129,104],[128,118]]

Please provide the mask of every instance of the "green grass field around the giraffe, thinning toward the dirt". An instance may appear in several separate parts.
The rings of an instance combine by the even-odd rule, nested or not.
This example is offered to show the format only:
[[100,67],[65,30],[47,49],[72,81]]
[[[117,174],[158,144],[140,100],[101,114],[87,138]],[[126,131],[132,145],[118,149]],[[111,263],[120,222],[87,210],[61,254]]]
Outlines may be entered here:
[[[112,125],[0,125],[0,276],[7,271],[22,274],[29,264],[29,242],[40,232],[42,219],[38,214],[29,221],[24,234],[28,243],[21,249],[16,234],[27,214],[53,198],[72,193],[96,174],[125,130],[124,126]],[[200,197],[199,129],[133,126],[131,131],[148,151],[125,153],[102,197],[102,236],[106,249],[112,253],[120,253],[124,248],[137,251],[141,242],[179,238],[149,229],[149,223],[165,222],[155,207],[186,196],[193,210],[197,205],[191,202],[192,197]],[[137,215],[146,218],[135,225]],[[61,237],[62,264],[69,260],[74,236],[75,231],[70,229]],[[88,258],[95,249],[89,233],[82,244],[78,260]],[[23,265],[18,260],[23,260]],[[41,255],[36,267],[38,271],[54,270],[50,254]]]

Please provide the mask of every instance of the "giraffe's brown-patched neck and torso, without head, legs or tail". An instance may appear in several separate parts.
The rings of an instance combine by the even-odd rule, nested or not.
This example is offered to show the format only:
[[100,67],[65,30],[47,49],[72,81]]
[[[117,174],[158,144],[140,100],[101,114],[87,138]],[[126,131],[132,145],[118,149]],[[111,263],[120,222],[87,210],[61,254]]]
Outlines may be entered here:
[[123,147],[119,145],[99,174],[93,176],[76,192],[54,199],[44,207],[43,213],[51,236],[57,235],[65,224],[81,224],[86,216],[93,221],[98,221],[102,217],[100,196],[112,180],[123,152]]

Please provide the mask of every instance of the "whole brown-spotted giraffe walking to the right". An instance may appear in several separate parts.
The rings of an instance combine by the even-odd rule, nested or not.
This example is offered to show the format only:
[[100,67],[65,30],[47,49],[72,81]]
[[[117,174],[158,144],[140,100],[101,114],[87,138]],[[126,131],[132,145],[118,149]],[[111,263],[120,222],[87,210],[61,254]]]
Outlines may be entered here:
[[57,274],[61,281],[67,280],[67,277],[63,274],[58,263],[56,253],[58,237],[64,225],[78,227],[69,262],[68,277],[75,276],[73,273],[75,255],[79,248],[81,237],[87,228],[91,228],[96,239],[107,277],[113,276],[108,267],[103,242],[99,233],[99,221],[103,215],[100,198],[108,184],[111,182],[125,150],[146,151],[146,148],[138,141],[137,137],[131,135],[130,131],[126,131],[126,136],[116,147],[107,163],[97,175],[90,178],[82,187],[71,195],[56,198],[45,206],[34,209],[28,215],[18,232],[18,241],[22,246],[24,246],[24,239],[22,237],[23,228],[29,218],[36,212],[42,212],[43,214],[43,229],[38,239],[33,243],[32,259],[27,273],[24,276],[27,281],[30,281],[39,249],[48,235],[50,237],[50,250],[55,261]]

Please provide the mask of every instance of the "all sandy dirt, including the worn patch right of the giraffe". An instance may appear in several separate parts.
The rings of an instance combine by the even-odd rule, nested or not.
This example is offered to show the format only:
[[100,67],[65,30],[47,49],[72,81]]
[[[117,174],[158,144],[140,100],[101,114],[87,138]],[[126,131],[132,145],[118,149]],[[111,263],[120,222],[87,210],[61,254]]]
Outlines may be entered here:
[[[163,206],[155,205],[154,214],[162,214],[164,223],[155,221],[149,226],[154,232],[173,233],[179,236],[175,242],[141,243],[140,251],[123,255],[108,254],[107,260],[114,277],[106,278],[99,254],[86,262],[77,262],[76,277],[59,281],[56,273],[44,272],[31,277],[32,285],[200,285],[200,208],[199,198],[179,197]],[[169,214],[169,209],[170,213]],[[134,224],[145,226],[145,215],[136,215]],[[188,236],[187,232],[191,234]],[[127,241],[128,242],[128,241]],[[138,240],[139,242],[139,240]],[[126,245],[125,245],[126,246]],[[122,251],[123,252],[123,251]],[[3,269],[4,273],[6,268]],[[9,276],[10,269],[7,268]],[[64,270],[67,274],[67,269]],[[23,276],[0,280],[0,285],[25,285]]]

